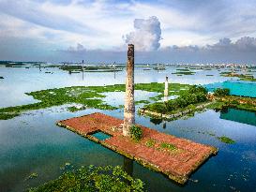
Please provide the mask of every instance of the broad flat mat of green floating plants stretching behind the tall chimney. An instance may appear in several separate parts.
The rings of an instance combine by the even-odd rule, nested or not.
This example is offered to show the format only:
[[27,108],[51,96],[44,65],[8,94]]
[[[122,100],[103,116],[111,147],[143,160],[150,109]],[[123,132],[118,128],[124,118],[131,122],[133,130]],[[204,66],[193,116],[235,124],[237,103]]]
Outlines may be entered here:
[[[170,95],[182,94],[189,85],[170,83]],[[40,102],[8,107],[0,109],[0,119],[7,120],[15,116],[18,116],[23,111],[39,110],[50,108],[53,106],[60,106],[64,104],[82,104],[83,108],[77,107],[68,108],[69,111],[83,110],[84,108],[95,108],[99,110],[116,110],[116,107],[108,105],[102,98],[105,96],[103,93],[107,92],[125,92],[125,84],[114,84],[106,86],[73,86],[58,89],[41,90],[31,93],[26,93],[28,96],[33,96]],[[164,84],[158,82],[152,83],[138,83],[135,84],[135,90],[142,90],[147,92],[159,93],[157,99],[163,96],[162,90],[164,90]],[[154,99],[154,98],[153,98]]]

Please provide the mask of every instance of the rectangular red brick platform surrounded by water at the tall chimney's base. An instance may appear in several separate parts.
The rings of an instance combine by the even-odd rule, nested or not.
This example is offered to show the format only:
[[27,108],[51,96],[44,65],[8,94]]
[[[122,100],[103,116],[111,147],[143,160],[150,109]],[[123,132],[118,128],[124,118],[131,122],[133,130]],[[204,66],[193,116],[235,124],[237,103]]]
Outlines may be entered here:
[[[123,121],[120,119],[102,113],[93,113],[63,120],[58,122],[57,125],[64,126],[121,155],[126,155],[144,167],[162,172],[179,184],[185,184],[188,180],[188,175],[192,171],[203,164],[210,155],[216,155],[218,152],[218,149],[215,147],[176,138],[143,126],[140,126],[143,129],[143,139],[134,141],[124,137],[122,130],[117,128],[122,123]],[[92,134],[98,131],[113,137],[107,140],[98,140],[92,136]],[[148,145],[148,140],[154,140],[153,146]],[[175,149],[163,149],[160,147],[162,143],[172,144],[172,146],[175,146]]]

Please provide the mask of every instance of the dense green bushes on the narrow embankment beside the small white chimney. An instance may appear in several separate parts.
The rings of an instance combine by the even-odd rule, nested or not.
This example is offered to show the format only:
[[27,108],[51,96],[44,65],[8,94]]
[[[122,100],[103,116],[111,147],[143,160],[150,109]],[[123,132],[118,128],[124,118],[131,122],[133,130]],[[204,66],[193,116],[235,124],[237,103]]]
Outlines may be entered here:
[[193,85],[180,96],[168,102],[156,102],[144,107],[145,110],[158,113],[173,113],[186,107],[194,108],[195,104],[207,100],[207,91],[203,86]]

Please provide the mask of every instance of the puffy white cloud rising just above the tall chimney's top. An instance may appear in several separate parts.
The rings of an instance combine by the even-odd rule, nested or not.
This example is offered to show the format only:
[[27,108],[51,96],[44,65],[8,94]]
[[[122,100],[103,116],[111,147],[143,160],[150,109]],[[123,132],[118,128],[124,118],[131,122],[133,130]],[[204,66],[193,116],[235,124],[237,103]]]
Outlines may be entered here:
[[126,35],[126,43],[134,44],[138,51],[156,51],[160,47],[161,27],[155,16],[147,20],[135,19],[135,31]]

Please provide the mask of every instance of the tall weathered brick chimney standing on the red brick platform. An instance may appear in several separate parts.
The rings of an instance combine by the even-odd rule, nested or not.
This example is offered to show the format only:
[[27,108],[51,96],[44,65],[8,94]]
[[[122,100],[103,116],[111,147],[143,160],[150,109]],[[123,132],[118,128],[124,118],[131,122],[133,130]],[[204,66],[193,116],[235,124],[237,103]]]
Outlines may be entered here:
[[123,135],[129,136],[130,126],[135,124],[134,105],[134,45],[128,44],[128,64]]

